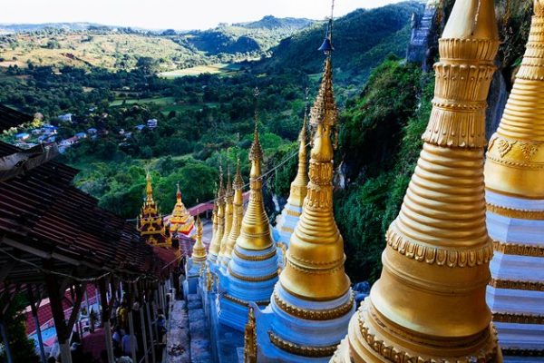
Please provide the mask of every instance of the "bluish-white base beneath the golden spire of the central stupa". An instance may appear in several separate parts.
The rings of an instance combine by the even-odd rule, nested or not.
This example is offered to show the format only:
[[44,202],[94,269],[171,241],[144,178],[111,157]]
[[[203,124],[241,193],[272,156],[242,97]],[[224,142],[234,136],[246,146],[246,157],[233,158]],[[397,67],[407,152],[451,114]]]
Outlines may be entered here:
[[[339,299],[330,301],[309,301],[298,299],[277,283],[276,293],[287,304],[300,309],[324,310],[345,305],[352,298],[351,289]],[[255,308],[255,307],[254,307]],[[347,326],[355,313],[355,303],[342,317],[330,320],[308,320],[297,318],[280,309],[272,298],[266,309],[255,311],[257,320],[258,362],[328,362],[330,356],[310,358],[297,355],[277,347],[270,340],[270,333],[300,347],[319,348],[336,346],[345,338]]]

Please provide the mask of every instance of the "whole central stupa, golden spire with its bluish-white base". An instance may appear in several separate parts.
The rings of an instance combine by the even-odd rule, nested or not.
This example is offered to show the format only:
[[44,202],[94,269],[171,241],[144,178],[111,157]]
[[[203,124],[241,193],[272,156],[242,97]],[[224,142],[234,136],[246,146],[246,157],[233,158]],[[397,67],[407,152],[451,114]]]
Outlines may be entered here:
[[325,71],[310,113],[313,129],[304,207],[267,309],[256,310],[263,361],[324,361],[335,353],[355,313],[345,274],[344,240],[333,212],[337,109],[333,91],[332,16],[320,50]]

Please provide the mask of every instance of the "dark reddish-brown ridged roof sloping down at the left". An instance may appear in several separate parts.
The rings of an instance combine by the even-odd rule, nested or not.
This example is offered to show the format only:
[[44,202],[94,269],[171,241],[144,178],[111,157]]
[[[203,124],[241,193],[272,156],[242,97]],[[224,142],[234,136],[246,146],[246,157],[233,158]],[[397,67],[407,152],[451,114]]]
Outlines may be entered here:
[[[0,142],[0,156],[13,152],[18,149]],[[0,182],[0,248],[38,266],[51,260],[54,270],[71,274],[74,264],[81,264],[90,269],[85,278],[112,270],[160,274],[162,262],[134,226],[73,187],[76,173],[62,163],[45,162]],[[11,261],[0,253],[0,266]],[[15,285],[42,279],[25,263],[16,263],[6,278]],[[0,282],[0,290],[5,289],[5,281]]]

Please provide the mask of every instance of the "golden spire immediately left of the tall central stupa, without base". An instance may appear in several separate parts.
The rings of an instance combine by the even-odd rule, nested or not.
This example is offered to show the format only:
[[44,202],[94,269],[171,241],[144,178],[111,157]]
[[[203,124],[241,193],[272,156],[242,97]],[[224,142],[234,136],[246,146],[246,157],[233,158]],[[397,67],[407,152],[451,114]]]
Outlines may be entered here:
[[253,142],[249,149],[251,172],[249,173],[249,203],[248,210],[242,221],[240,235],[236,244],[246,250],[266,250],[272,246],[270,225],[265,204],[263,201],[263,181],[261,175],[261,162],[263,150],[258,140],[257,113],[255,116],[255,132]]

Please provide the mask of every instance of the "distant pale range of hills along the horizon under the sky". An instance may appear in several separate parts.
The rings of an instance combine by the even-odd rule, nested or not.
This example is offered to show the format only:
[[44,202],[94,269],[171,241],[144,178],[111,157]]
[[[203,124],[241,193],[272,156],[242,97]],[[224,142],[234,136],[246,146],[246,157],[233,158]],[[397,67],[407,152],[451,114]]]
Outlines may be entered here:
[[[27,64],[131,70],[147,58],[153,72],[259,58],[312,24],[307,19],[265,16],[204,31],[151,32],[89,23],[0,25],[0,67]],[[6,34],[8,33],[8,34]]]

